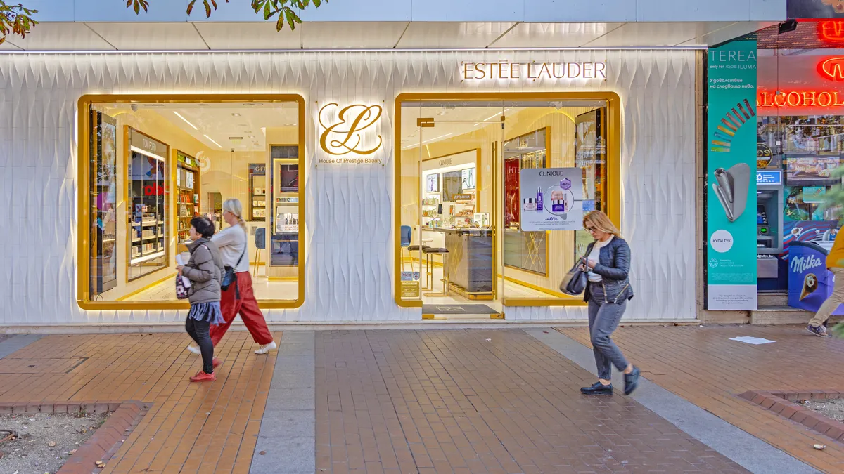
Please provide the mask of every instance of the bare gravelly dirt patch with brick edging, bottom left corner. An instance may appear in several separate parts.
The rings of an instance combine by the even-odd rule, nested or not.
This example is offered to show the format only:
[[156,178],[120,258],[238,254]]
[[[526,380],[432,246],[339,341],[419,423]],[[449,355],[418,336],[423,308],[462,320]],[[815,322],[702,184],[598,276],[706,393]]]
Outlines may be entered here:
[[0,472],[3,474],[54,473],[68,461],[108,414],[46,414],[0,416],[0,439],[13,430],[17,437],[0,442]]

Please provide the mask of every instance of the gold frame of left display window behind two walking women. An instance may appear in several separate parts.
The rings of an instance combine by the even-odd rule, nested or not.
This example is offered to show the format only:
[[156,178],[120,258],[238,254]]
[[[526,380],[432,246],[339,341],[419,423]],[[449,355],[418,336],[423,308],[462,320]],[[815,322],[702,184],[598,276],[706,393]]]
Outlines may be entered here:
[[[77,285],[76,300],[79,308],[83,310],[187,310],[190,304],[187,300],[181,301],[98,301],[89,298],[89,266],[87,262],[89,255],[89,229],[90,229],[90,160],[89,160],[89,139],[90,119],[89,110],[91,105],[113,104],[113,103],[244,103],[244,102],[296,102],[299,105],[299,167],[300,167],[300,193],[305,193],[305,98],[300,94],[85,94],[77,102]],[[176,181],[176,166],[170,167],[170,181]],[[304,224],[305,200],[299,200],[300,222]],[[299,232],[299,288],[296,299],[262,299],[258,300],[258,307],[262,310],[292,309],[299,308],[305,303],[305,229],[300,227]],[[160,282],[157,282],[160,283]]]

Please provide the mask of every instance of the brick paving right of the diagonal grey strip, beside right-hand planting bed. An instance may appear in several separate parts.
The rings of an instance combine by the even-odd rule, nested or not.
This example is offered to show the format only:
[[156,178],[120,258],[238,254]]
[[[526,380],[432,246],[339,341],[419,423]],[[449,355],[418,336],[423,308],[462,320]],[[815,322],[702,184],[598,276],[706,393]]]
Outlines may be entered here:
[[[586,329],[558,331],[591,347]],[[776,342],[729,340],[738,336]],[[647,379],[821,471],[844,472],[844,445],[738,398],[749,390],[844,391],[844,341],[804,326],[630,326],[613,338]]]

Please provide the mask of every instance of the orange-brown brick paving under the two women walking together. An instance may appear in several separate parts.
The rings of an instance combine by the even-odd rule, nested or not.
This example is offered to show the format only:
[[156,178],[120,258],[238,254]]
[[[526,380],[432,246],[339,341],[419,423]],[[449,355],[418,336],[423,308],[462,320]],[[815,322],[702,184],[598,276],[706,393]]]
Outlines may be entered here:
[[0,359],[0,405],[149,402],[102,472],[246,474],[275,353],[256,355],[247,332],[230,332],[216,350],[225,361],[218,380],[192,384],[202,363],[188,342],[185,334],[43,337]]

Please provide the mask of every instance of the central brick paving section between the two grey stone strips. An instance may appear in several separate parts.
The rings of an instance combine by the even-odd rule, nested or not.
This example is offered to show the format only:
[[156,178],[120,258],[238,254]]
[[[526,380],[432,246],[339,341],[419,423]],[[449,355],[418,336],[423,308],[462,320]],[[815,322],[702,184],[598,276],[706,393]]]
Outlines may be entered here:
[[582,396],[592,375],[523,331],[317,332],[316,351],[317,472],[747,472]]

